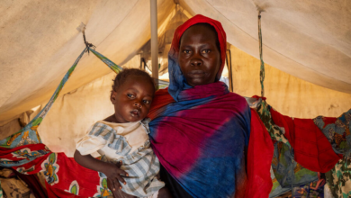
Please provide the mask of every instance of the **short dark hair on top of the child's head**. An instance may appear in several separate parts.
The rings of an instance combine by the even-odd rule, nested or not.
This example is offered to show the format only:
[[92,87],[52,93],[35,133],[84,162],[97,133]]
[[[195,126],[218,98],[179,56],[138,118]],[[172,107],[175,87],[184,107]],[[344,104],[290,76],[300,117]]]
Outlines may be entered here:
[[120,86],[123,85],[123,83],[130,76],[144,76],[155,87],[154,79],[151,76],[149,76],[148,73],[146,73],[145,71],[140,70],[138,68],[123,68],[123,70],[121,70],[121,72],[118,73],[113,80],[112,91],[117,92],[118,88],[120,88]]

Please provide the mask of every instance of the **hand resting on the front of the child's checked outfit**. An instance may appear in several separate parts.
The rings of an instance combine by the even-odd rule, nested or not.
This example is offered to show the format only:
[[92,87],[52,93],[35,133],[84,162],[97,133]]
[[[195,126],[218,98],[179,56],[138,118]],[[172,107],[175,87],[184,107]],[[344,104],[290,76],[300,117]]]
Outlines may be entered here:
[[108,186],[110,190],[115,191],[118,188],[122,188],[121,184],[127,184],[123,177],[121,175],[126,175],[128,176],[128,173],[122,170],[121,168],[121,161],[117,165],[109,164],[106,163],[105,170],[103,171],[103,174],[107,176],[107,181],[108,181]]

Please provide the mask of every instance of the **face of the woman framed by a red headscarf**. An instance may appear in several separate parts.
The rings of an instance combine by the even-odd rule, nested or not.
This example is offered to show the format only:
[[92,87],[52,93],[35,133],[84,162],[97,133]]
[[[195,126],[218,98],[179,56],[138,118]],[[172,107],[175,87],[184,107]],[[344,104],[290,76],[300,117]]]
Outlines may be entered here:
[[203,24],[195,24],[184,31],[178,62],[189,85],[206,85],[215,81],[220,68],[216,40],[216,32]]

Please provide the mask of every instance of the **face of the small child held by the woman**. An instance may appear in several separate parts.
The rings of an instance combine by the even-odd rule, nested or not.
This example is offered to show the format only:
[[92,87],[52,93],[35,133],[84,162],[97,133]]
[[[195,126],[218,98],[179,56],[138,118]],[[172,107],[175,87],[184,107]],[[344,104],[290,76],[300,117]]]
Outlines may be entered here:
[[155,87],[148,78],[130,76],[116,91],[111,94],[116,122],[141,121],[148,115],[155,93]]

